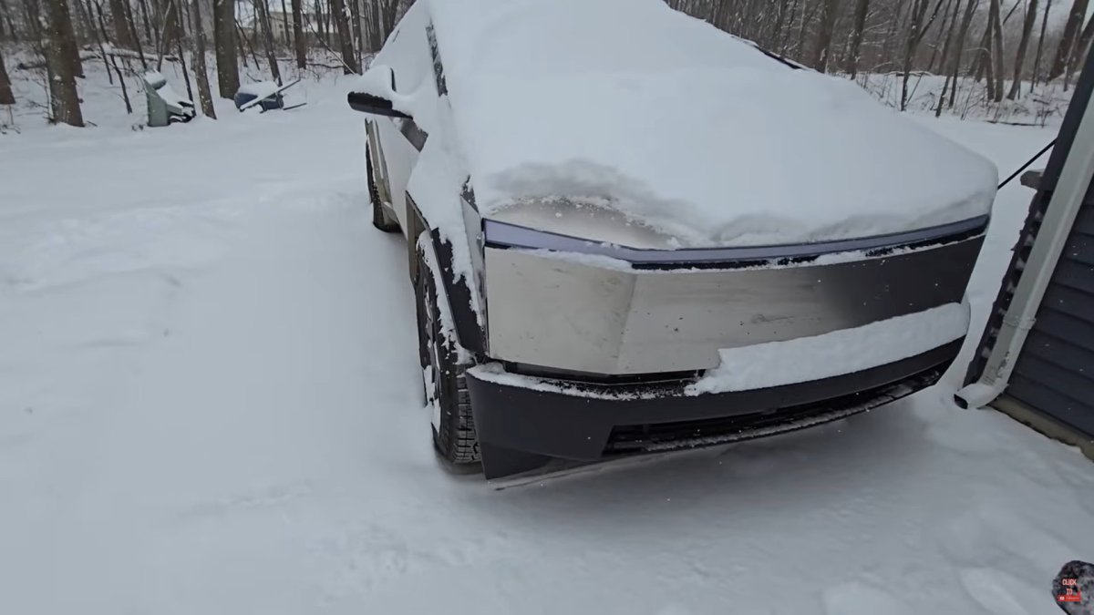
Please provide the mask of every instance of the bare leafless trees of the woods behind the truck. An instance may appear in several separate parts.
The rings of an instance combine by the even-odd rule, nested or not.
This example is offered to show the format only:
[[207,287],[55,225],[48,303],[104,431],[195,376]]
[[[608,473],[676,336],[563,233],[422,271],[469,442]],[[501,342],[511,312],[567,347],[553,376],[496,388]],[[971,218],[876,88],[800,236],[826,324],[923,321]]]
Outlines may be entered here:
[[[822,72],[852,79],[896,73],[903,81],[901,109],[913,74],[944,76],[939,114],[954,105],[962,78],[984,82],[994,102],[1054,80],[1067,86],[1094,38],[1094,20],[1085,16],[1090,0],[1056,0],[1055,5],[1054,0],[666,1]],[[83,125],[77,80],[86,61],[102,62],[112,80],[121,81],[127,108],[126,76],[181,62],[187,91],[193,92],[191,71],[194,97],[205,115],[214,117],[209,68],[224,98],[240,89],[241,65],[261,68],[278,83],[278,62],[287,59],[299,70],[335,62],[344,72],[360,72],[409,3],[0,0],[0,104],[14,104],[3,44],[21,44],[40,59],[16,68],[45,71],[53,121]],[[207,67],[210,45],[213,66]]]

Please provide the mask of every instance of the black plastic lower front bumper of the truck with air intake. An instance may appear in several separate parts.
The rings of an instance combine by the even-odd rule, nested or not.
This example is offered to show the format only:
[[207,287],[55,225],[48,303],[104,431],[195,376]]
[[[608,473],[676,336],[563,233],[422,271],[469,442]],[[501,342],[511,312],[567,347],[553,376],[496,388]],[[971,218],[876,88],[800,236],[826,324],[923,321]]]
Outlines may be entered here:
[[688,396],[688,382],[657,385],[545,381],[549,391],[467,374],[487,478],[551,459],[595,461],[707,446],[836,420],[931,386],[961,339],[922,355],[824,380]]

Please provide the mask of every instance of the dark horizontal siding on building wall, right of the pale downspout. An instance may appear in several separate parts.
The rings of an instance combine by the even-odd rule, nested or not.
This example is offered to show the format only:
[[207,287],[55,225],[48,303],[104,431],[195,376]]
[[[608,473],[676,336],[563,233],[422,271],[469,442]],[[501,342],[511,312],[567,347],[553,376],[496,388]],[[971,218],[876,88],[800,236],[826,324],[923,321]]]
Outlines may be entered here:
[[1086,192],[1006,394],[1094,437],[1094,185]]

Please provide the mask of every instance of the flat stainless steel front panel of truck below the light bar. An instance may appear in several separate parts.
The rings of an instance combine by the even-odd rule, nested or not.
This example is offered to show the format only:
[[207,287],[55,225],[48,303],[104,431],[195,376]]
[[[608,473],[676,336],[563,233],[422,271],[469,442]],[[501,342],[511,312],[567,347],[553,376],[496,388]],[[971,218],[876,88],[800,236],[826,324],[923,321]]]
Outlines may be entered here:
[[488,353],[600,374],[705,370],[718,350],[962,301],[982,235],[891,256],[650,270],[486,247]]

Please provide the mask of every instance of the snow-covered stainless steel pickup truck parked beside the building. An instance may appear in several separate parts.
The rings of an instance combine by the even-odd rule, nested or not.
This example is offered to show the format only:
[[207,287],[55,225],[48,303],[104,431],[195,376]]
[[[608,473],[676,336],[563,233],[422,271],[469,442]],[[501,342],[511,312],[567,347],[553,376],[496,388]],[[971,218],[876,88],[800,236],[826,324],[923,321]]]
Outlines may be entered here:
[[968,328],[996,167],[662,0],[418,0],[348,101],[488,478],[838,419]]

